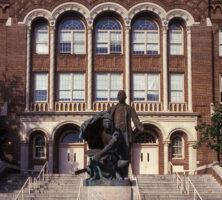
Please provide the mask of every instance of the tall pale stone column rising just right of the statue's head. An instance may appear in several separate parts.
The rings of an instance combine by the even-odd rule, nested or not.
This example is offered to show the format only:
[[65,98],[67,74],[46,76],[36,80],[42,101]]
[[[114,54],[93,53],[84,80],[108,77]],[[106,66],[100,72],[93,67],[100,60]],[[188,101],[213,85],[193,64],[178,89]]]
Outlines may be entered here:
[[130,26],[125,27],[125,87],[126,103],[130,104]]

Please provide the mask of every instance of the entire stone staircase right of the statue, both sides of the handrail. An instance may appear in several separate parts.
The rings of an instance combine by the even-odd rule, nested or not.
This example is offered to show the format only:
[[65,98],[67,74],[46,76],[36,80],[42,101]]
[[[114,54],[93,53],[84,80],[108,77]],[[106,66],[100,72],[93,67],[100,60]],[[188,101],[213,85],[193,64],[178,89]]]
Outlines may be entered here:
[[[193,188],[189,195],[177,189],[174,175],[137,175],[141,200],[192,200]],[[203,200],[222,200],[222,186],[211,175],[189,175]],[[185,178],[184,178],[185,180]]]

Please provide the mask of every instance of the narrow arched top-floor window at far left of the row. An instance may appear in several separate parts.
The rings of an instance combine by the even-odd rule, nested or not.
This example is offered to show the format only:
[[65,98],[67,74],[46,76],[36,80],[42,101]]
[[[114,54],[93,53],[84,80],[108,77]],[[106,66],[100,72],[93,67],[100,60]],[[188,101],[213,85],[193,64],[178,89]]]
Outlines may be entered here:
[[35,53],[49,53],[49,31],[48,26],[40,24],[35,27]]

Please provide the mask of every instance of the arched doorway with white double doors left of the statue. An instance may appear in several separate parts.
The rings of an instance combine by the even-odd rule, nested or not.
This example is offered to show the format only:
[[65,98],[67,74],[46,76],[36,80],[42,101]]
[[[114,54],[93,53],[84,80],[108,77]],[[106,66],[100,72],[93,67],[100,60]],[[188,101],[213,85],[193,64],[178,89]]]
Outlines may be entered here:
[[74,173],[84,167],[84,144],[76,131],[63,133],[59,142],[59,173]]

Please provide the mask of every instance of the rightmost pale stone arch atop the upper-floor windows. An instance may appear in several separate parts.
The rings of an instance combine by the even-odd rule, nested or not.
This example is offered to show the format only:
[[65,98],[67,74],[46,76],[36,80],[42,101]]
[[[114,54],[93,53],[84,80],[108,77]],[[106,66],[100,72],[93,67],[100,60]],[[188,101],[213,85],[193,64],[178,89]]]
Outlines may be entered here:
[[181,18],[185,21],[186,26],[192,26],[195,23],[193,16],[186,10],[173,9],[167,12],[164,25],[167,26],[173,18]]

